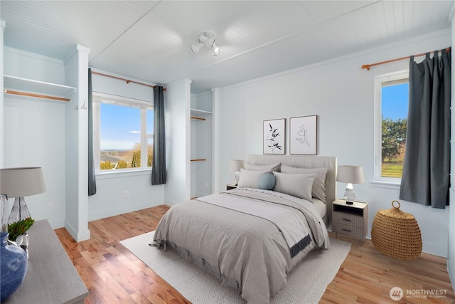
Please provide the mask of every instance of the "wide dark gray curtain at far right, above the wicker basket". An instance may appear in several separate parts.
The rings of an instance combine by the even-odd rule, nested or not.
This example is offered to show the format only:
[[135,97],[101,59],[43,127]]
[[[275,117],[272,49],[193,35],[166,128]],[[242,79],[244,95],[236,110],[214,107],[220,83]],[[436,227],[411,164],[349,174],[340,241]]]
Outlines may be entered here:
[[449,204],[451,51],[410,60],[410,100],[400,199]]

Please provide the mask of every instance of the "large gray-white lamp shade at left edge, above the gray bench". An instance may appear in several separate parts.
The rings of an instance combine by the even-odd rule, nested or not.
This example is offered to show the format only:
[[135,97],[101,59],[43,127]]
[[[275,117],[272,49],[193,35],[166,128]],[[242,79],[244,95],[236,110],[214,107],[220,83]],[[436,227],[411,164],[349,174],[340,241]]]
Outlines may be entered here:
[[0,193],[23,197],[45,192],[43,169],[23,167],[0,169]]

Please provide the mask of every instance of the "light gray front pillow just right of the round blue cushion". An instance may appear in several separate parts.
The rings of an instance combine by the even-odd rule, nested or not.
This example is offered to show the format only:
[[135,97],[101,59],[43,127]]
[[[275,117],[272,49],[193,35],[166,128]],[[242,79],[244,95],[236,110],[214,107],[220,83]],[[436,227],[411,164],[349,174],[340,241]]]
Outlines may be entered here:
[[286,174],[273,172],[277,182],[273,191],[290,194],[311,201],[311,187],[313,187],[314,177],[312,174]]

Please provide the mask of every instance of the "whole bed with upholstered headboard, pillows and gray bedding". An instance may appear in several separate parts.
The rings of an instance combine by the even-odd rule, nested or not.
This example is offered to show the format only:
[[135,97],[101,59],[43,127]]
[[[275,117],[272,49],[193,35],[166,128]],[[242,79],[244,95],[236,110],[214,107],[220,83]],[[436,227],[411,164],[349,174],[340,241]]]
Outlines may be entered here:
[[336,195],[336,162],[249,155],[237,189],[172,206],[153,243],[238,288],[247,303],[270,303],[294,266],[311,250],[330,246],[326,226]]

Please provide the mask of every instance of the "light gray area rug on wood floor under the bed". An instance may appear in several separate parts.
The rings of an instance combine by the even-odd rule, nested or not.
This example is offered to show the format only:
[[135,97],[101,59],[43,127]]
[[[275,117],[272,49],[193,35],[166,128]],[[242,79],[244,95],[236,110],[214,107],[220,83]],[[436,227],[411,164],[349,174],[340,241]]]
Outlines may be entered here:
[[[210,273],[189,263],[174,251],[149,246],[154,231],[120,241],[134,256],[176,288],[193,304],[245,304],[237,289],[222,286]],[[327,285],[350,251],[350,243],[330,239],[330,249],[316,249],[291,271],[287,287],[272,299],[272,304],[319,303]]]

